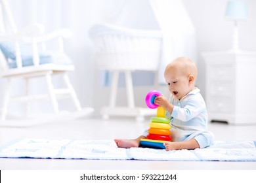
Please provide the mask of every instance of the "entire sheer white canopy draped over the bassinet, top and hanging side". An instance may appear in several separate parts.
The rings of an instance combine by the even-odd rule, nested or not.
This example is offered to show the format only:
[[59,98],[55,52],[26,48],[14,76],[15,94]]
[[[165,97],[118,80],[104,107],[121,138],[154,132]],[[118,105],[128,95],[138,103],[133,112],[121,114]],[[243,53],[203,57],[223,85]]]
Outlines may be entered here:
[[196,62],[196,30],[182,0],[123,0],[116,6],[116,11],[111,10],[111,24],[161,31],[163,56],[160,73],[167,63],[179,56]]

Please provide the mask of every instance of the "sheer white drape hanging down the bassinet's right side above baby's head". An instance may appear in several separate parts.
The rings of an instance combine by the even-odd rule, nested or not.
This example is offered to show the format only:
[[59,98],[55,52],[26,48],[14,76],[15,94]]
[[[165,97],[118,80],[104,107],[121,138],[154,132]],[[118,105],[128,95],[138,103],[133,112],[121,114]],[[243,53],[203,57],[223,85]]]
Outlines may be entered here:
[[[150,0],[163,33],[163,60],[160,74],[172,59],[186,56],[196,62],[196,30],[181,0]],[[160,76],[161,83],[164,83]]]

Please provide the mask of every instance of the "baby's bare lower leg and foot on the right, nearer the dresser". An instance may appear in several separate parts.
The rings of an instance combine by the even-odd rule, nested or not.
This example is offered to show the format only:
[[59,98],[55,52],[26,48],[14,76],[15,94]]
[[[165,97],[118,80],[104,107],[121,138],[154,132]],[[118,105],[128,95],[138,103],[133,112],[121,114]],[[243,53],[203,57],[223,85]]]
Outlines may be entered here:
[[184,142],[165,142],[164,146],[166,150],[182,150],[182,149],[194,150],[196,148],[200,148],[198,141],[196,141],[196,139],[191,139],[189,141],[184,141]]

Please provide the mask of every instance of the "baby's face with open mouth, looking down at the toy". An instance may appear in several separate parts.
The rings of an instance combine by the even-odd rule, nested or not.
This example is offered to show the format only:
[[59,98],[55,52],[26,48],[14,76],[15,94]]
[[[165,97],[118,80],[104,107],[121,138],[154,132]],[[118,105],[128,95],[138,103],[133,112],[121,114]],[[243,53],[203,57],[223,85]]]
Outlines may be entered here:
[[184,75],[177,69],[169,69],[165,72],[165,81],[168,85],[169,92],[175,98],[181,100],[191,90],[188,76]]

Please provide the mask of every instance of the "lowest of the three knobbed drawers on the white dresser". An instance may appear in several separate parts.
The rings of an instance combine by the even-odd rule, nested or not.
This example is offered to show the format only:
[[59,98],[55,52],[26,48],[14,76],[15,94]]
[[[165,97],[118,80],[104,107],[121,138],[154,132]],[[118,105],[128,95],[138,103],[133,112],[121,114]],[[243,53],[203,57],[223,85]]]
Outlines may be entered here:
[[231,98],[211,97],[207,101],[209,112],[233,112],[234,103]]

